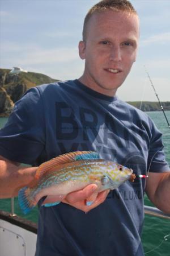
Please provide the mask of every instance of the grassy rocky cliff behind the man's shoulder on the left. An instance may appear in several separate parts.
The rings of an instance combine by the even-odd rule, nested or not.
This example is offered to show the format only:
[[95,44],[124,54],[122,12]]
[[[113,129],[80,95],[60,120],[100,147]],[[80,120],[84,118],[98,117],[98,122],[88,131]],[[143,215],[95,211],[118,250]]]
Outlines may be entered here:
[[0,69],[0,117],[8,117],[14,103],[31,87],[58,81],[40,73],[10,74],[10,69]]

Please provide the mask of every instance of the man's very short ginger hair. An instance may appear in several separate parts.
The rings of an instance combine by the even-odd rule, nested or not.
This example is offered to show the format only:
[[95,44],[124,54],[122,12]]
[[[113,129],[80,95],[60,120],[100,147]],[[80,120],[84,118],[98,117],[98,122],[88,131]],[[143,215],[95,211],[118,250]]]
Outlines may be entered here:
[[100,13],[105,10],[113,11],[126,11],[130,14],[136,14],[137,11],[134,9],[133,5],[128,0],[102,0],[96,5],[92,6],[88,11],[83,24],[83,41],[86,41],[87,23],[90,20],[92,14]]

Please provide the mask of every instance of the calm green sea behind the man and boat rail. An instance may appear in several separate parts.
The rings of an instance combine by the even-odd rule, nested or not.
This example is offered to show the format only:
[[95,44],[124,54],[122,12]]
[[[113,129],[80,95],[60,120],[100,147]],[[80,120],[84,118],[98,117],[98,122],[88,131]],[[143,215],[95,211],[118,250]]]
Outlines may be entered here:
[[[165,112],[170,122],[170,111]],[[154,120],[158,128],[163,133],[163,142],[165,146],[165,153],[167,161],[170,166],[170,129],[165,121],[162,112],[148,112],[148,115]],[[0,118],[0,128],[5,125],[7,118]],[[170,195],[169,195],[170,196]],[[151,205],[150,201],[145,196],[145,205]],[[10,199],[0,200],[0,209],[10,211]],[[15,213],[19,216],[27,218],[28,220],[37,222],[37,208],[32,210],[27,216],[23,216],[18,206],[18,200],[15,198]],[[167,241],[165,241],[165,236]],[[165,238],[164,238],[165,237]],[[169,256],[170,255],[170,221],[158,217],[145,216],[145,225],[143,228],[142,241],[145,253],[148,256]],[[152,250],[154,249],[154,250]],[[152,250],[150,253],[148,251]]]

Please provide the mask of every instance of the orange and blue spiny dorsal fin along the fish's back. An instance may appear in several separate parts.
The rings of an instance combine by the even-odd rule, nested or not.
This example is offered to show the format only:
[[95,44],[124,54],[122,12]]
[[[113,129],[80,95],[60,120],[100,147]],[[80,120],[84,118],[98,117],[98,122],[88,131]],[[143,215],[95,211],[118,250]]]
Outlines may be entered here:
[[[76,160],[82,160],[82,159],[76,159],[80,155],[83,155],[83,159],[90,159],[90,154],[94,155],[95,157],[95,154],[97,153],[93,151],[75,151],[75,152],[59,155],[56,158],[53,158],[45,163],[42,163],[37,169],[35,177],[36,179],[39,179],[47,171],[51,170],[55,166],[58,166],[59,164],[71,163]],[[86,155],[87,155],[87,158],[85,158]],[[96,159],[96,158],[91,158],[91,159]]]

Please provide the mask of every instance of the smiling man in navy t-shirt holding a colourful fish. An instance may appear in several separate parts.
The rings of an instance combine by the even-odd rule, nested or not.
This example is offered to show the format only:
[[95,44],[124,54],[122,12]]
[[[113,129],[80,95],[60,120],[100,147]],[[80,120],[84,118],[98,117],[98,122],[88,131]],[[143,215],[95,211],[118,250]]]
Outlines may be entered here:
[[16,162],[39,165],[71,151],[97,151],[137,175],[150,168],[146,184],[137,177],[109,195],[97,194],[91,184],[55,207],[40,206],[36,256],[142,256],[144,191],[170,212],[162,134],[147,115],[116,97],[136,59],[138,40],[139,19],[130,2],[100,1],[84,20],[82,77],[32,88],[1,130],[2,197],[17,195],[33,180],[36,167]]

